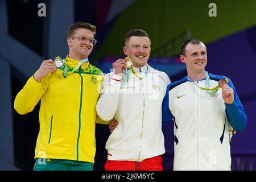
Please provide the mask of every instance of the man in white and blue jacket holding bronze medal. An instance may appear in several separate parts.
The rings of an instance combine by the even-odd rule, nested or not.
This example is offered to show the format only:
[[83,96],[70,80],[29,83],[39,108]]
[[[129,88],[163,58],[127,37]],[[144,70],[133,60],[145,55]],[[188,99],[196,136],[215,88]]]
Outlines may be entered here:
[[[162,127],[174,120],[174,170],[230,170],[232,130],[247,116],[232,81],[205,71],[207,49],[197,39],[181,46],[188,75],[167,87]],[[224,86],[218,86],[219,81]]]

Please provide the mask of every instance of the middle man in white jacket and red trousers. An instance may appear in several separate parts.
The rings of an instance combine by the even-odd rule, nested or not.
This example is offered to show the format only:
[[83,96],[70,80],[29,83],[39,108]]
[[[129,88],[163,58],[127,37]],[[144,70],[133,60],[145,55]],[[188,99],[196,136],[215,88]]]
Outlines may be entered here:
[[106,142],[105,170],[163,170],[162,102],[170,78],[147,64],[151,48],[144,30],[127,32],[123,52],[132,66],[126,59],[113,63],[96,106],[101,119],[118,121]]

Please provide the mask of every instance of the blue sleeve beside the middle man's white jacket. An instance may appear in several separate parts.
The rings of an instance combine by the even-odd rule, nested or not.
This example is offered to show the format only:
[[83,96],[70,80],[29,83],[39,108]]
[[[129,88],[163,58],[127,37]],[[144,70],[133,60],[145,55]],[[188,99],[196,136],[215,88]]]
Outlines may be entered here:
[[162,130],[167,126],[168,123],[171,122],[171,119],[174,117],[171,113],[171,110],[169,109],[169,88],[170,84],[167,86],[166,96],[164,97],[162,104]]

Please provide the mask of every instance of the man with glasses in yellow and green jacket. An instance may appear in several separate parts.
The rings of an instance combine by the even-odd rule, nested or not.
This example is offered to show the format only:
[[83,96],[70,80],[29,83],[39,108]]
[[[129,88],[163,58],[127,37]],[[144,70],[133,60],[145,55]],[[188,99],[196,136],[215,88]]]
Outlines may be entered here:
[[15,98],[19,114],[29,113],[41,101],[34,170],[93,169],[96,103],[104,78],[88,62],[95,34],[92,24],[72,24],[66,59],[43,61]]

